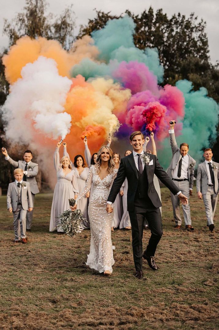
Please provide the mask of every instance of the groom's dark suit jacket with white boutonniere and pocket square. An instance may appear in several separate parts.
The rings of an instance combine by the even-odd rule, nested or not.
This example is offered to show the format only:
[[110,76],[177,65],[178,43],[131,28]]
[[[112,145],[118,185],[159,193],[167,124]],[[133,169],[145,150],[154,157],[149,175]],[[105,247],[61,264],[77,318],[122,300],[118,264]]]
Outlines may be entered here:
[[[154,188],[153,184],[153,175],[155,174],[162,183],[165,184],[170,191],[176,195],[179,192],[179,188],[172,181],[169,175],[163,170],[158,159],[155,155],[144,152],[146,155],[150,157],[150,161],[153,160],[153,165],[145,164],[147,181],[145,180],[145,184],[140,184],[139,181],[139,172],[135,165],[135,160],[133,153],[130,155],[123,157],[121,159],[119,171],[116,179],[113,182],[112,188],[110,190],[109,197],[107,201],[114,202],[117,194],[120,191],[120,188],[127,178],[128,181],[128,192],[127,192],[127,209],[128,211],[134,211],[134,199],[137,194],[139,198],[150,198],[152,204],[155,208],[162,206],[159,196]],[[146,191],[145,191],[146,190]]]

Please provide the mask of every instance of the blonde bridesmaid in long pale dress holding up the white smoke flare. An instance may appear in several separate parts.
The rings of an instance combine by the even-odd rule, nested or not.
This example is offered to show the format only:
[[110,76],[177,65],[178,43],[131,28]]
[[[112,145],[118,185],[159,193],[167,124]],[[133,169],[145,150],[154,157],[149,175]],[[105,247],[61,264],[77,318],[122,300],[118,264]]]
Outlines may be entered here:
[[[70,210],[68,198],[76,199],[79,193],[76,173],[71,168],[69,157],[63,156],[59,161],[60,146],[61,144],[58,142],[54,152],[57,183],[53,194],[49,231],[52,231],[59,223],[59,215],[66,210]],[[62,227],[58,227],[57,231],[62,232]]]

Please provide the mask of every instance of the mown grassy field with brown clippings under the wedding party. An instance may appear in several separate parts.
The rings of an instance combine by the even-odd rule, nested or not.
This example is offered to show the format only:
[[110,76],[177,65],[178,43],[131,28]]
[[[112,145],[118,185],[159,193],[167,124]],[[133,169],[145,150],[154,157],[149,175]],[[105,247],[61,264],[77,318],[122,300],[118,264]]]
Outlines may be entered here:
[[[14,244],[13,216],[0,197],[0,329],[218,329],[219,223],[206,227],[203,201],[191,198],[195,232],[174,230],[169,191],[161,189],[164,235],[153,272],[134,278],[131,232],[115,230],[113,274],[85,265],[90,231],[49,233],[52,194],[36,195],[28,244]],[[184,225],[184,223],[183,223]],[[144,247],[150,237],[144,232]]]

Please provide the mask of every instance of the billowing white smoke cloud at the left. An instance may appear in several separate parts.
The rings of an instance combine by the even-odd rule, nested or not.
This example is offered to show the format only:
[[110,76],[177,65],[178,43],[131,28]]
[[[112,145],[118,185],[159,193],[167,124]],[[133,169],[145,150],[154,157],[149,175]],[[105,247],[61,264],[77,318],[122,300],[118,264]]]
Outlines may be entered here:
[[39,134],[65,138],[71,116],[64,112],[71,80],[59,76],[56,62],[40,56],[21,71],[2,107],[6,138],[30,144]]

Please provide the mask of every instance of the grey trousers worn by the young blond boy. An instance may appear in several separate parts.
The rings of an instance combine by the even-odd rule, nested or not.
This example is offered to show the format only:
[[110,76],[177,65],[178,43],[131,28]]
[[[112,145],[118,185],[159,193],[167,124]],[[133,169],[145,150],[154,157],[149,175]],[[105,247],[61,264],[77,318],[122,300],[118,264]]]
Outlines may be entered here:
[[22,208],[22,205],[17,205],[16,211],[13,212],[14,215],[14,239],[15,241],[20,240],[20,238],[26,238],[26,214]]

